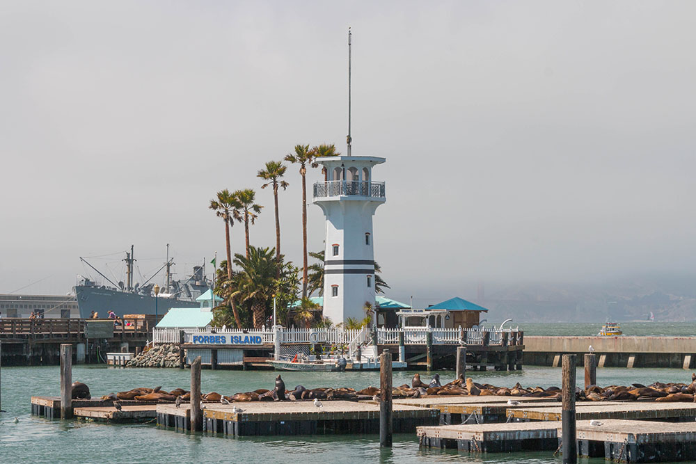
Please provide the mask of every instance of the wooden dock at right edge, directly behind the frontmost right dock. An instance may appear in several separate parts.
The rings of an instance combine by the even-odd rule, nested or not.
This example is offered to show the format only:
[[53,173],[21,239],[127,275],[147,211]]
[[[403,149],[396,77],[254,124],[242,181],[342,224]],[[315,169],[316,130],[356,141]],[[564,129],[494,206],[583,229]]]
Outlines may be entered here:
[[[576,403],[577,405],[587,403]],[[593,402],[580,406],[576,413],[578,421],[590,419],[652,419],[652,420],[695,420],[696,403],[655,403],[647,401]],[[514,420],[557,421],[561,419],[560,406],[553,408],[510,409]]]

